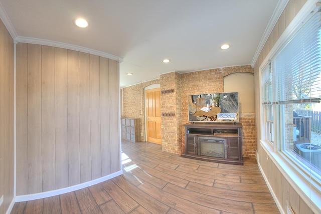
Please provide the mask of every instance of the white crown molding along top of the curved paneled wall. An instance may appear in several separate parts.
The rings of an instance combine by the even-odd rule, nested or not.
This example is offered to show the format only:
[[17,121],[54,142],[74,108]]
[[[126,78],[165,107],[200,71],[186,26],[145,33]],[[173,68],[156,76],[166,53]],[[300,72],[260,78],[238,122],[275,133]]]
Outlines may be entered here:
[[96,50],[89,49],[89,48],[84,48],[81,46],[71,45],[71,44],[67,44],[67,43],[51,41],[51,40],[43,40],[43,39],[30,38],[30,37],[16,37],[16,39],[14,41],[15,41],[15,44],[17,44],[17,43],[30,43],[30,44],[37,44],[37,45],[53,46],[53,47],[57,47],[57,48],[65,48],[65,49],[69,49],[69,50],[73,50],[73,51],[80,51],[80,52],[84,52],[84,53],[88,53],[88,54],[94,54],[94,55],[97,55],[100,57],[106,57],[108,59],[116,60],[120,63],[123,61],[123,58],[117,57],[112,54],[104,53],[101,51],[96,51]]

